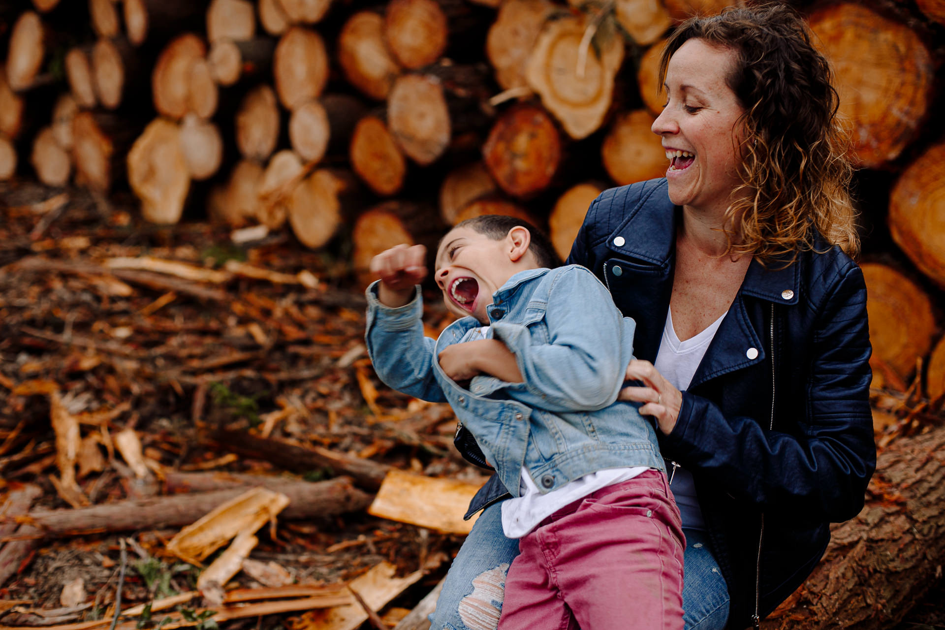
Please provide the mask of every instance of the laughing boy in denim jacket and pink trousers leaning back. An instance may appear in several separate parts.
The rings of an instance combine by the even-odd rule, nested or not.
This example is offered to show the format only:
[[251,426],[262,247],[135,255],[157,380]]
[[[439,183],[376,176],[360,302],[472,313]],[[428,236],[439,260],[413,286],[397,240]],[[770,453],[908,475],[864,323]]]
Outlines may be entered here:
[[400,246],[371,262],[369,354],[384,383],[449,401],[513,497],[502,522],[520,555],[499,630],[681,630],[679,511],[652,424],[615,402],[633,321],[584,267],[549,268],[540,232],[481,216],[438,247],[437,284],[462,318],[434,340],[423,258]]

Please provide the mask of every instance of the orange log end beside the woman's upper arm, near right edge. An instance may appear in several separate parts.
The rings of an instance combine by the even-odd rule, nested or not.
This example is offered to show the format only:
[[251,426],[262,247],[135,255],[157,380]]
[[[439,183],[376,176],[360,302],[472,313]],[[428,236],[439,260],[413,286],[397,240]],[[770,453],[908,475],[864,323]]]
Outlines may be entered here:
[[[915,282],[885,264],[861,265],[869,299],[869,341],[873,352],[903,379],[916,359],[932,348],[936,319],[932,302]],[[902,314],[908,313],[908,318]]]

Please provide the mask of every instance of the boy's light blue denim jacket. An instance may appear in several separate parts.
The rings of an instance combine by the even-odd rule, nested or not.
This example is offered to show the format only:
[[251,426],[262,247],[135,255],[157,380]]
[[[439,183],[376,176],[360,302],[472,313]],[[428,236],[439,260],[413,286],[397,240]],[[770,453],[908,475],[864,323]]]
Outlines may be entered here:
[[523,466],[542,493],[604,468],[665,469],[652,422],[615,401],[633,358],[634,322],[585,267],[522,271],[495,292],[490,333],[515,353],[524,383],[482,375],[469,389],[437,357],[482,324],[463,317],[437,340],[425,337],[420,287],[409,304],[389,308],[376,284],[367,291],[365,337],[378,377],[404,394],[448,401],[512,496]]

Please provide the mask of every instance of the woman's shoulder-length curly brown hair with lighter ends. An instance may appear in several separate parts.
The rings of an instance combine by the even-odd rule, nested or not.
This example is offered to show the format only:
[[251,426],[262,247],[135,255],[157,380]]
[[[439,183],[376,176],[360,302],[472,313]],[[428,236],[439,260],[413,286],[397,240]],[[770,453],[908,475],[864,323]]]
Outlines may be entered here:
[[693,39],[736,54],[726,83],[745,109],[743,183],[726,212],[729,253],[790,264],[815,248],[813,228],[855,256],[849,134],[837,116],[833,72],[810,28],[781,4],[690,18],[663,50],[661,86],[670,58]]

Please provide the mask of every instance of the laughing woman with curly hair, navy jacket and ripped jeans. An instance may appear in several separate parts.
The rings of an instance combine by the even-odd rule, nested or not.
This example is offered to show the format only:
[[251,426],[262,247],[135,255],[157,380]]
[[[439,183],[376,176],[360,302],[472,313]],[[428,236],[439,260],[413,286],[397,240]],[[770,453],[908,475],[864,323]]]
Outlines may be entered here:
[[[680,25],[666,179],[594,200],[568,263],[637,322],[624,400],[656,418],[687,538],[687,628],[758,627],[862,508],[875,447],[863,275],[826,60],[791,9]],[[672,473],[671,473],[672,474]],[[494,628],[516,553],[486,505],[433,628]],[[628,597],[639,596],[627,593]]]

